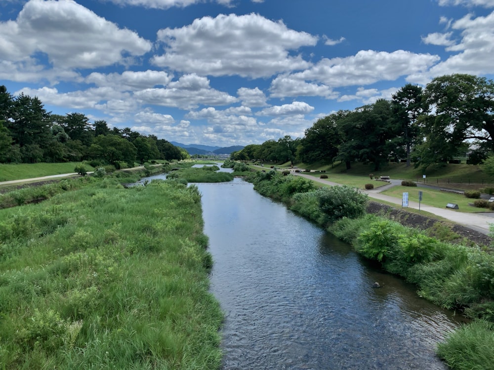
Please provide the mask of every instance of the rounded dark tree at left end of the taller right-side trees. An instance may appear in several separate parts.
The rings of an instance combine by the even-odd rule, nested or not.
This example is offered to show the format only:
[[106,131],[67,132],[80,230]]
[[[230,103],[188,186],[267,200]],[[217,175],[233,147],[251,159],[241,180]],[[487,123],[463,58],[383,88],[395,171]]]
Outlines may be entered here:
[[300,141],[297,155],[304,163],[326,161],[332,163],[338,154],[338,146],[342,143],[341,133],[336,121],[349,112],[338,111],[318,119],[312,127],[305,130]]

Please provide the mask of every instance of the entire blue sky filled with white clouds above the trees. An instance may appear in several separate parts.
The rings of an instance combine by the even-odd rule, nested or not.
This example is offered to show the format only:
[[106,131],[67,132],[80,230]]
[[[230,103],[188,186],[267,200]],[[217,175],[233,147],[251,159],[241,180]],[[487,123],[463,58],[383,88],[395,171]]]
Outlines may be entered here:
[[261,144],[444,74],[493,78],[494,0],[1,0],[0,84],[184,144]]

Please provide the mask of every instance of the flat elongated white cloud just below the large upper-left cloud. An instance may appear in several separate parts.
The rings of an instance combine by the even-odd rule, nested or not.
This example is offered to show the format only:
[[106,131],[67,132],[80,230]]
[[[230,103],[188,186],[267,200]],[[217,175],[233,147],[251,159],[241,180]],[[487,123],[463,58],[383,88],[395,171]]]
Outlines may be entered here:
[[85,78],[85,82],[96,86],[110,86],[119,91],[142,90],[156,86],[166,86],[172,75],[163,71],[125,71],[122,74],[102,74],[93,72]]

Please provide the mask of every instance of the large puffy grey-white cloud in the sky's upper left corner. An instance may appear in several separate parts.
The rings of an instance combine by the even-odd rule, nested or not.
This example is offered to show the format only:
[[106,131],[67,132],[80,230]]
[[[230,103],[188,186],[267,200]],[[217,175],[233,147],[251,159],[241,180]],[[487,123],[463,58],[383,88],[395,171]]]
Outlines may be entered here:
[[95,68],[140,56],[151,42],[73,0],[30,0],[15,21],[0,23],[0,55],[12,62],[46,56],[58,69]]

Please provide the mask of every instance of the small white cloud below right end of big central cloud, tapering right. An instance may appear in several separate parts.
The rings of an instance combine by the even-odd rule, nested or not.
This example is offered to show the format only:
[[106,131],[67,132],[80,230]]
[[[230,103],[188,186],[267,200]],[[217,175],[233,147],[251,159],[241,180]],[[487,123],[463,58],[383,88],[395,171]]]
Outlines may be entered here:
[[269,87],[272,98],[285,98],[296,96],[322,96],[325,98],[336,98],[337,93],[333,92],[329,86],[306,82],[294,75],[280,74]]

